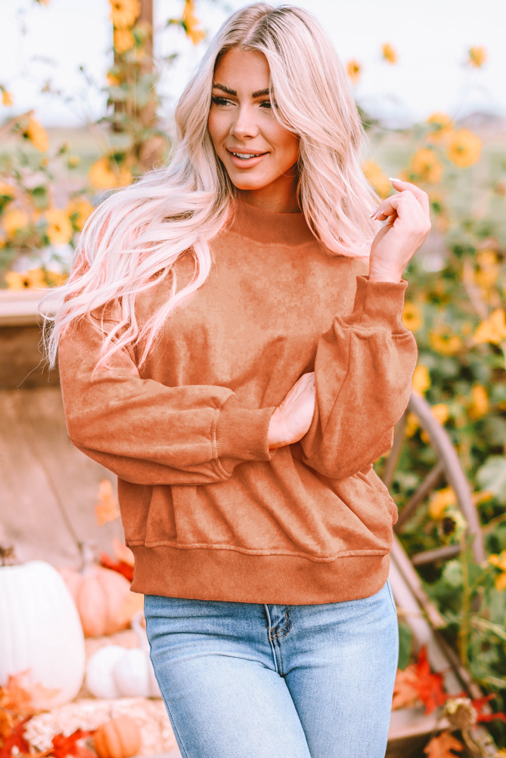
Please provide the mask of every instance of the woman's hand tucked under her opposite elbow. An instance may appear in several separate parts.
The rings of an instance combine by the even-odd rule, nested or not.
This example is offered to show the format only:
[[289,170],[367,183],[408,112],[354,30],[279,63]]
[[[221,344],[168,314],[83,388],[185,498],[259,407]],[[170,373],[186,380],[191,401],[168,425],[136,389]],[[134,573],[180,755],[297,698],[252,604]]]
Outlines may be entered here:
[[309,431],[315,412],[315,372],[302,374],[281,400],[269,422],[269,450],[298,442]]

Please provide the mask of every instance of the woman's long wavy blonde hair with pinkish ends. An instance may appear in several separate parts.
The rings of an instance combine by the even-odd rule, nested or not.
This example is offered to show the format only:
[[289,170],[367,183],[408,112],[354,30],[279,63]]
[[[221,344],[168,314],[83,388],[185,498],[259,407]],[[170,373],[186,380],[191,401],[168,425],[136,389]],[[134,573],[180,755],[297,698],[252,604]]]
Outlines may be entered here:
[[[168,164],[108,196],[93,211],[68,280],[42,299],[39,312],[50,368],[58,340],[71,324],[110,303],[121,316],[108,331],[102,322],[97,367],[116,350],[143,340],[140,368],[168,315],[206,280],[212,262],[209,240],[225,224],[235,196],[207,128],[216,63],[234,48],[262,52],[269,63],[275,117],[300,138],[297,199],[314,235],[335,254],[369,255],[379,228],[369,212],[378,196],[360,168],[365,133],[344,67],[308,11],[253,3],[223,23],[185,87],[175,111],[176,143]],[[178,291],[173,265],[188,250],[195,274]],[[167,302],[140,329],[137,295],[169,272]]]

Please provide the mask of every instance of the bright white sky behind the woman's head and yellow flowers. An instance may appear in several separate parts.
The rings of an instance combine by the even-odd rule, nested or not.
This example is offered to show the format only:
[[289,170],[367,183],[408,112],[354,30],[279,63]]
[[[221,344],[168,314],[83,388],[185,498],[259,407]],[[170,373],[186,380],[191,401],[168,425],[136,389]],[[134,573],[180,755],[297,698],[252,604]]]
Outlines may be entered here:
[[[205,41],[191,45],[177,27],[163,30],[168,18],[181,16],[183,5],[183,0],[154,0],[155,53],[179,52],[161,83],[167,114],[206,49]],[[212,36],[231,11],[247,3],[196,0],[195,5]],[[506,116],[506,0],[296,0],[294,5],[323,23],[344,63],[360,62],[355,95],[367,112],[392,125],[423,121],[434,111]],[[47,7],[34,0],[0,0],[0,34],[0,84],[14,96],[13,108],[0,105],[0,123],[28,108],[46,127],[77,127],[102,114],[99,86],[112,63],[107,0],[49,0]],[[393,45],[398,64],[382,60],[384,42]],[[481,69],[466,65],[471,45],[487,49]],[[88,80],[96,80],[96,89],[80,66]],[[39,94],[47,81],[61,97]]]

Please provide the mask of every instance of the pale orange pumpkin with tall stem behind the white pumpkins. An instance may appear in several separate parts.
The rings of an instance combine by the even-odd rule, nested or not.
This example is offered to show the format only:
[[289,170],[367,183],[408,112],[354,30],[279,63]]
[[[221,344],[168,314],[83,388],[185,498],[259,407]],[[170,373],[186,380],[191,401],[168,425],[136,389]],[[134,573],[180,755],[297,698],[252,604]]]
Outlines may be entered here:
[[60,574],[77,606],[85,637],[114,634],[126,629],[124,606],[130,599],[130,582],[110,568],[93,560],[90,547],[83,546],[83,568],[60,568]]

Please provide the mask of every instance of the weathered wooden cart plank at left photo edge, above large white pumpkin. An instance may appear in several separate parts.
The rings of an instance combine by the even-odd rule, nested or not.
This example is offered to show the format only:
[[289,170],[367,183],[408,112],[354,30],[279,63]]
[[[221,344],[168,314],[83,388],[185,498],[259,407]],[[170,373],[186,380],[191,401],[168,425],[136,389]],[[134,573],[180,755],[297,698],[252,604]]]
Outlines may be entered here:
[[0,503],[2,527],[20,561],[74,563],[77,545],[61,517],[46,471],[30,444],[30,430],[19,418],[16,390],[0,392]]

